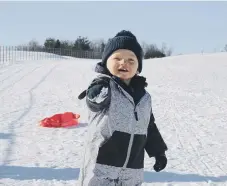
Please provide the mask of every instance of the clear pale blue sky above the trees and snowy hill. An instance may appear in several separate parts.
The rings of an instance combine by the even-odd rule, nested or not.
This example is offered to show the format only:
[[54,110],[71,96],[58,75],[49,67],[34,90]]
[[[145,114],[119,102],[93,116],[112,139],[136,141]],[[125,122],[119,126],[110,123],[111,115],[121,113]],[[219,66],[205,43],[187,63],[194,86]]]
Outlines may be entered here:
[[43,44],[47,37],[90,40],[132,31],[174,54],[220,51],[227,44],[227,2],[0,2],[0,45]]

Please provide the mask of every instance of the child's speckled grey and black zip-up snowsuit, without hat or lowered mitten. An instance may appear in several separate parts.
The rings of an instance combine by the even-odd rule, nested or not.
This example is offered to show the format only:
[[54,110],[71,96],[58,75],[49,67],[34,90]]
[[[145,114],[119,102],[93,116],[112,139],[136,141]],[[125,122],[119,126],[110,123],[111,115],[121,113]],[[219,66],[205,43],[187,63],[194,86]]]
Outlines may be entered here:
[[117,77],[100,74],[84,92],[89,128],[80,186],[141,185],[145,151],[155,157],[167,150],[146,85],[141,76],[127,86]]

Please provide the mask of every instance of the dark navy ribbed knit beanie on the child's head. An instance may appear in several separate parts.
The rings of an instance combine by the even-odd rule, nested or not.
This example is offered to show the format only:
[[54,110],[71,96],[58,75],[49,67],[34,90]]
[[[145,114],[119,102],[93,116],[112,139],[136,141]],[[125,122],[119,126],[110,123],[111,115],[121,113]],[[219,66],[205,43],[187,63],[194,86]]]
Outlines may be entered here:
[[139,62],[138,71],[142,71],[143,50],[136,37],[126,30],[118,32],[115,37],[108,41],[103,51],[102,64],[106,65],[107,59],[118,49],[127,49],[134,52]]

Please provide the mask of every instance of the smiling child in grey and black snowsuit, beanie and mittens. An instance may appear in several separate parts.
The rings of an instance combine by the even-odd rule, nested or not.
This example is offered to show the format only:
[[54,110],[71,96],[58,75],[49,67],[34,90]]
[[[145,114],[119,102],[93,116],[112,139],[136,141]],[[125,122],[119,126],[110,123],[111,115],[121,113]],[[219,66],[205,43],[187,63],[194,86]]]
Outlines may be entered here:
[[80,186],[140,186],[145,151],[156,172],[167,164],[167,146],[155,124],[145,90],[143,51],[136,37],[121,31],[106,45],[95,78],[79,99],[89,108],[88,140]]

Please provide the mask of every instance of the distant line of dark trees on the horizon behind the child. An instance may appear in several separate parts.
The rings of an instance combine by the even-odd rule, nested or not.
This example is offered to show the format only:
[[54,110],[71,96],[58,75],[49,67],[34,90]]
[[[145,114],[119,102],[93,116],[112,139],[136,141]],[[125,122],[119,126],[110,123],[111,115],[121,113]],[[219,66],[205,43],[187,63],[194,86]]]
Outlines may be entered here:
[[[90,52],[95,53],[98,58],[101,58],[101,54],[106,46],[107,41],[102,39],[97,41],[90,41],[87,37],[79,36],[75,41],[59,40],[53,37],[46,38],[43,45],[35,40],[31,40],[27,46],[29,50],[53,52],[55,54],[75,56],[75,52]],[[144,58],[162,58],[172,55],[172,49],[168,48],[166,44],[162,44],[161,48],[158,48],[155,44],[142,44],[144,50]],[[69,52],[71,51],[71,52]],[[80,55],[80,54],[78,54]]]

